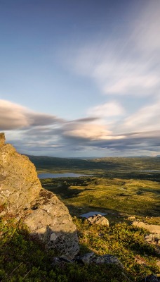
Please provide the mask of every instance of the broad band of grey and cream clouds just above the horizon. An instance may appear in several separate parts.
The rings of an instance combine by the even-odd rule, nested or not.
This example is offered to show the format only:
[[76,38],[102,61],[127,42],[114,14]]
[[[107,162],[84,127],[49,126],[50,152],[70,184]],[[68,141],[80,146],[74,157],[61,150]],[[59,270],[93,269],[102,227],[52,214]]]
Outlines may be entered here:
[[[6,140],[25,154],[57,157],[159,154],[159,99],[128,117],[123,116],[120,104],[108,102],[89,109],[88,113],[91,111],[94,116],[74,121],[62,121],[18,104],[0,102],[0,125],[7,130]],[[108,118],[114,118],[114,114],[122,115],[121,123],[114,119],[108,125]]]

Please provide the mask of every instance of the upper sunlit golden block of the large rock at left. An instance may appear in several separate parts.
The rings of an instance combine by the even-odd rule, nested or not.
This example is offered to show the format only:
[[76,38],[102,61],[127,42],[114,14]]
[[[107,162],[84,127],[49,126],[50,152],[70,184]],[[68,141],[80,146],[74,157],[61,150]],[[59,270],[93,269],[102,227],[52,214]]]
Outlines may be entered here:
[[13,213],[30,207],[30,203],[39,195],[41,183],[34,164],[4,142],[4,134],[1,134],[0,205],[5,205],[3,213]]

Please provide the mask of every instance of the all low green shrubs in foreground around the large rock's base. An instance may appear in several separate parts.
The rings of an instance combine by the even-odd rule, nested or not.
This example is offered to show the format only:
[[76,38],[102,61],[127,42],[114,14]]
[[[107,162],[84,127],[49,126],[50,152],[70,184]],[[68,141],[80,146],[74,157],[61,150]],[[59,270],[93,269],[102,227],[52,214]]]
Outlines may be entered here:
[[[114,265],[53,266],[54,253],[47,252],[39,240],[29,236],[21,223],[10,218],[0,220],[0,281],[125,282],[128,278],[140,281],[147,274],[156,273],[155,250],[144,242],[144,231],[124,223],[107,230],[89,226],[79,219],[74,221],[79,231],[81,253],[93,250],[99,255],[116,255],[125,270]],[[137,264],[136,256],[144,259],[145,265]]]

